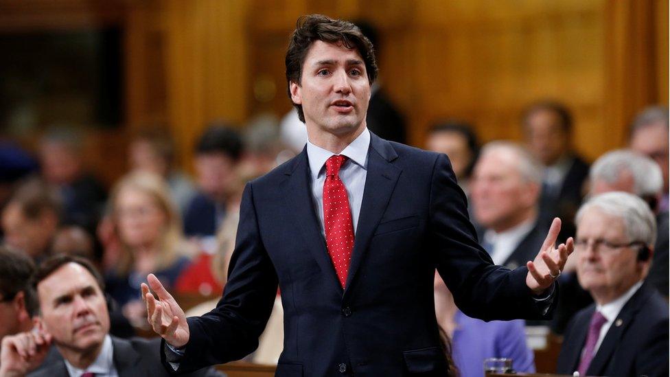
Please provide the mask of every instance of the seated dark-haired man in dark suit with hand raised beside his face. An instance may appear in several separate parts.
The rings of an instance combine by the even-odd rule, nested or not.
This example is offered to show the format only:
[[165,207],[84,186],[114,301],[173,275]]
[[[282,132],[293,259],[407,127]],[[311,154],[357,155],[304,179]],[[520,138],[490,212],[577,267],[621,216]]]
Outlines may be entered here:
[[[161,366],[159,339],[108,334],[102,277],[86,260],[65,255],[45,260],[31,284],[29,300],[39,308],[36,328],[5,336],[0,376],[168,375]],[[204,369],[194,376],[221,374]]]

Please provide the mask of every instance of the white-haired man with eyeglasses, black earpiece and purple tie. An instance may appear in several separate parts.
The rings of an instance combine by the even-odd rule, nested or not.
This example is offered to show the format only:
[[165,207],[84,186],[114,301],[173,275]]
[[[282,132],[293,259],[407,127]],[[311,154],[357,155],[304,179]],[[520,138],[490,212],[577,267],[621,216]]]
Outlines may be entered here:
[[668,376],[668,304],[645,283],[656,220],[638,196],[594,196],[575,217],[579,284],[594,304],[568,324],[559,374]]

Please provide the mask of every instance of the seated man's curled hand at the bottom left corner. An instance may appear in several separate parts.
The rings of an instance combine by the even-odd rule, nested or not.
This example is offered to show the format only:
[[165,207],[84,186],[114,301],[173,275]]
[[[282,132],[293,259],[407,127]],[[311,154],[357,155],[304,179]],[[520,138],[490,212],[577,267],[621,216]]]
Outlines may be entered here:
[[5,336],[0,346],[0,376],[25,376],[43,363],[50,345],[51,335],[37,329]]

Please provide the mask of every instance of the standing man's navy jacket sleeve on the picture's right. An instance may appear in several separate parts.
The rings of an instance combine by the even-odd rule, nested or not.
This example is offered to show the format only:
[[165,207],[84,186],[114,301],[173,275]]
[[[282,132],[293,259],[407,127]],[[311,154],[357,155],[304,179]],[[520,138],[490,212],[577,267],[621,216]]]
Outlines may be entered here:
[[433,168],[429,216],[437,271],[465,315],[485,321],[551,317],[557,300],[547,310],[541,301],[533,299],[526,285],[528,269],[510,271],[496,266],[478,244],[467,215],[465,194],[446,155],[439,155]]

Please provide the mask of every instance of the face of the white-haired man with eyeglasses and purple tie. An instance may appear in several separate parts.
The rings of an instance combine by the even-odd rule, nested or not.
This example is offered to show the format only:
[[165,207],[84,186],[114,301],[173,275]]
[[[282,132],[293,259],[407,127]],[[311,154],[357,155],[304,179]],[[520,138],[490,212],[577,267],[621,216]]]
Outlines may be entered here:
[[[623,219],[591,208],[577,226],[577,240],[603,240],[611,244],[627,244]],[[579,284],[601,304],[623,295],[643,278],[643,262],[636,260],[639,246],[610,249],[604,244],[577,247],[577,278]]]

